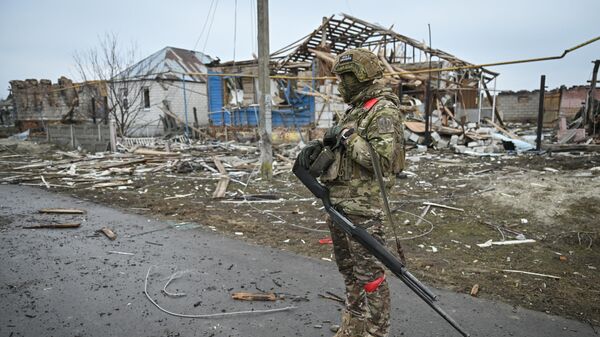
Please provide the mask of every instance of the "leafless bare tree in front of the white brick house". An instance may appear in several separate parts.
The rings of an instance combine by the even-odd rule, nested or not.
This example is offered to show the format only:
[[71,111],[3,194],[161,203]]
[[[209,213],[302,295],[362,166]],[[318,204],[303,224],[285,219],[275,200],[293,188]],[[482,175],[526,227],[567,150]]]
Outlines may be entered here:
[[97,106],[102,107],[99,110],[104,112],[100,119],[114,120],[118,134],[127,136],[140,127],[136,120],[144,109],[144,88],[151,79],[152,65],[144,61],[136,63],[135,44],[121,47],[116,34],[106,33],[98,40],[97,47],[75,53],[75,66],[85,83],[106,85],[104,95],[96,97]]

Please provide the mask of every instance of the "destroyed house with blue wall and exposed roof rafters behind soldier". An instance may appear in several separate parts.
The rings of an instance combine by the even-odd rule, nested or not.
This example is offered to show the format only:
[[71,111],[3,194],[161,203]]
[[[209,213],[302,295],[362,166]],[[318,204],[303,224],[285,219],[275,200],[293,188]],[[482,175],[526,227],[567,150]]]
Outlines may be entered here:
[[[497,73],[392,29],[341,14],[323,18],[312,33],[271,54],[273,126],[331,125],[333,116],[345,110],[331,67],[336,55],[352,48],[367,48],[379,56],[387,73],[382,82],[402,96],[406,113],[423,118],[430,83],[430,112],[498,117],[492,114],[495,102],[489,91]],[[256,125],[256,67],[251,60],[211,68],[224,75],[209,76],[211,124]],[[483,99],[490,101],[488,108],[481,104]]]

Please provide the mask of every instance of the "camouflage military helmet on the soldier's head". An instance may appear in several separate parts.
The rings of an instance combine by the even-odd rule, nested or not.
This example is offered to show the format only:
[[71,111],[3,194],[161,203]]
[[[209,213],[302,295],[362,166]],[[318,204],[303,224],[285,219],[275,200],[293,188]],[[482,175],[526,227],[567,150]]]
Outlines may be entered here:
[[383,69],[379,65],[379,59],[372,52],[358,48],[346,50],[338,55],[333,64],[334,74],[352,72],[359,82],[365,82],[381,78]]

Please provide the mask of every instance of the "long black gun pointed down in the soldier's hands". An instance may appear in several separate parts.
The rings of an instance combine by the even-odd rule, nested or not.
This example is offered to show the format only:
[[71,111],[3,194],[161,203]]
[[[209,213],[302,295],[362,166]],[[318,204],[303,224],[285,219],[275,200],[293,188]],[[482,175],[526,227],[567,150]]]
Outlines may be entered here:
[[375,240],[366,230],[361,227],[354,225],[350,220],[338,212],[329,199],[329,189],[317,181],[306,168],[302,167],[298,161],[294,163],[292,172],[300,181],[306,186],[310,192],[317,198],[321,199],[323,206],[333,223],[341,228],[344,232],[350,235],[354,240],[363,245],[373,256],[381,261],[394,275],[396,275],[406,286],[412,290],[417,296],[419,296],[425,303],[427,303],[435,312],[437,312],[444,320],[446,320],[456,331],[460,332],[461,335],[469,337],[469,334],[465,332],[452,317],[438,307],[435,304],[437,296],[434,295],[431,290],[427,289],[421,281],[417,280],[400,260],[398,260],[392,253],[390,253],[379,241]]

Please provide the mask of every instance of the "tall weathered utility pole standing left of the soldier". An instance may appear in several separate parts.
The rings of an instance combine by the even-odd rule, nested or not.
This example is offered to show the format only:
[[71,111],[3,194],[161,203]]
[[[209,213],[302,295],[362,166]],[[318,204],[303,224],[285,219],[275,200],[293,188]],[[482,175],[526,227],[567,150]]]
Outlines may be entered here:
[[273,177],[273,149],[271,146],[271,81],[269,79],[269,1],[257,1],[258,19],[258,134],[260,137],[260,174],[263,179]]

